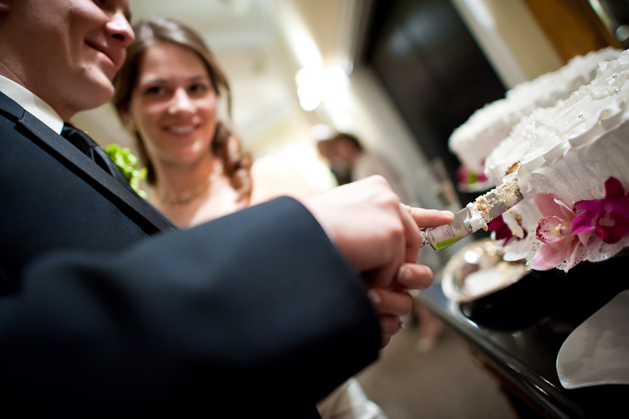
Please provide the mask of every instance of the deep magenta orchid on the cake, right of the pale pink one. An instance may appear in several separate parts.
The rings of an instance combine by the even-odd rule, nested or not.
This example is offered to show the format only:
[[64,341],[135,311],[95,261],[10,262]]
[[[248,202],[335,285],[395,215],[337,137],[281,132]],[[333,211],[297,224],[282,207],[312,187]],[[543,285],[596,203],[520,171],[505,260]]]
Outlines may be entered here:
[[582,212],[572,221],[572,234],[594,230],[605,243],[618,243],[629,234],[629,194],[616,178],[605,181],[605,198],[579,201],[574,209]]

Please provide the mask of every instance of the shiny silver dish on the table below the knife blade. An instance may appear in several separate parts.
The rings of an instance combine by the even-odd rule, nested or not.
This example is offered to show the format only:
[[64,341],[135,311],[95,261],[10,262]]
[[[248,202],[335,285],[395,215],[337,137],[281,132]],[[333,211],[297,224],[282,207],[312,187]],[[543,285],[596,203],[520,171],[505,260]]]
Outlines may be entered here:
[[491,239],[461,248],[443,269],[443,293],[452,301],[473,301],[516,283],[530,272],[523,261],[505,262],[503,255]]

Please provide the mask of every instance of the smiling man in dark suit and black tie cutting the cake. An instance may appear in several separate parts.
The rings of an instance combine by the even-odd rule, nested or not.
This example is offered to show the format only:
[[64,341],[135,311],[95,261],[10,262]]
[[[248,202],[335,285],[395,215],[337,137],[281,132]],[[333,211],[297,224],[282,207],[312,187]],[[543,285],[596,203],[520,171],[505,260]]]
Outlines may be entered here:
[[59,135],[112,96],[130,18],[0,0],[3,416],[317,417],[410,311],[393,290],[431,282],[419,225],[451,213],[370,178],[174,229]]

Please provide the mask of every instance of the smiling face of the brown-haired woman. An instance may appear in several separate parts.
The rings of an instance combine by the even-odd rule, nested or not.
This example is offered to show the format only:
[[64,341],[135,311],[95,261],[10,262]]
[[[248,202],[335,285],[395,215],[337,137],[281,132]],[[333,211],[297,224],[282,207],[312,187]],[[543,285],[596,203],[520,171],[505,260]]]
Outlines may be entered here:
[[129,118],[155,164],[194,164],[211,158],[216,93],[194,52],[173,43],[148,48],[133,88]]

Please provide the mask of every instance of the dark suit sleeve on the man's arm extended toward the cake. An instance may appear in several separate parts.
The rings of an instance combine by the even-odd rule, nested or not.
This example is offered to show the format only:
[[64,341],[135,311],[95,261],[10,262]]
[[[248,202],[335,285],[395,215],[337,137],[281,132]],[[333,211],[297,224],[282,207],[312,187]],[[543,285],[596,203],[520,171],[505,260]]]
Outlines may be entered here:
[[52,411],[294,411],[379,346],[361,278],[289,198],[124,252],[49,255],[0,317],[7,399]]

